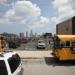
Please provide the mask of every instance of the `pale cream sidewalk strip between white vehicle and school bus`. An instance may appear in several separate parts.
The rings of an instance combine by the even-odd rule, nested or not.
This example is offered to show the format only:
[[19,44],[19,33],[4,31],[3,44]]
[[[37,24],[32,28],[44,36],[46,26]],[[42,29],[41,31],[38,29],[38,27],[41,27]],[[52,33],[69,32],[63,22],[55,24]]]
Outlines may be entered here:
[[52,57],[51,52],[52,51],[24,51],[20,50],[17,52],[21,58],[44,58],[44,57]]

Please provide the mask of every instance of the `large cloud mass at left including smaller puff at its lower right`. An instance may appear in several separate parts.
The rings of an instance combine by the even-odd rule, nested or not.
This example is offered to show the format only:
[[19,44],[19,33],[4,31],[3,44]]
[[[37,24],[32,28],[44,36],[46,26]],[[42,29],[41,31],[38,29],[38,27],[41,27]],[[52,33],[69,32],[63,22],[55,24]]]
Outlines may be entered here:
[[25,25],[34,30],[49,24],[49,19],[41,15],[41,9],[30,1],[17,1],[3,18],[2,20],[7,21],[8,24]]

